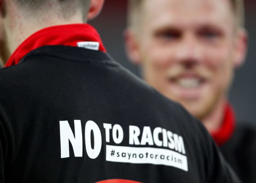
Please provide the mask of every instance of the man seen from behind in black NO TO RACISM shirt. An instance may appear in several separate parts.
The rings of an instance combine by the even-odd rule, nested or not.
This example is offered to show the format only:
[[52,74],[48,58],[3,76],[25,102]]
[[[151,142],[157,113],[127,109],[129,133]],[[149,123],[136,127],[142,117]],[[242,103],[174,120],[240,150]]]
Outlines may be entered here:
[[84,24],[102,4],[0,1],[0,182],[240,182],[200,122],[106,54]]

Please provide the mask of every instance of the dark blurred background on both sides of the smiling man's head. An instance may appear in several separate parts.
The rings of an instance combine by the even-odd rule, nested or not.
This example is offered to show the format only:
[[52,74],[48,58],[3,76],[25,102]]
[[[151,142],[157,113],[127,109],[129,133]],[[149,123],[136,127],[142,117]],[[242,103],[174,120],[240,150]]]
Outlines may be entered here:
[[[236,70],[229,99],[239,122],[256,126],[256,0],[245,1],[249,50],[245,64]],[[132,65],[125,54],[123,32],[126,27],[127,0],[106,0],[100,16],[89,22],[97,28],[108,53],[124,67],[140,76],[140,68]]]

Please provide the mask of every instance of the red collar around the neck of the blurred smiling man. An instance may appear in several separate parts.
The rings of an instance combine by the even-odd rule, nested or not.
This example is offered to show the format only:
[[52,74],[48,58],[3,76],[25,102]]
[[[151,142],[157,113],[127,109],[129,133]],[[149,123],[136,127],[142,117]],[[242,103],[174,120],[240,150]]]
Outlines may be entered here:
[[212,137],[218,146],[225,144],[233,135],[235,130],[235,113],[232,106],[227,103],[225,107],[225,114],[220,129],[212,132]]

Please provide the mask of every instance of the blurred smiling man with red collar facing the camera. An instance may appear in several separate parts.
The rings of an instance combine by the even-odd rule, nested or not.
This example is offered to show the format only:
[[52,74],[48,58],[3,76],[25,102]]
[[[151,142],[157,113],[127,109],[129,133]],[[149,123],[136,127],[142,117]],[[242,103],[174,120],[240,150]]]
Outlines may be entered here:
[[256,182],[256,131],[235,128],[227,102],[246,54],[243,1],[131,0],[125,40],[142,77],[200,119],[244,182]]

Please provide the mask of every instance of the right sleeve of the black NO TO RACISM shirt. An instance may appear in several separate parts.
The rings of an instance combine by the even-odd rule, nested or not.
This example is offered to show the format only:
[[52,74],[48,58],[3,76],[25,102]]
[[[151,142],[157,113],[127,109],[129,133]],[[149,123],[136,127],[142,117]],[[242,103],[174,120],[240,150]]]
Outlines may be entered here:
[[192,149],[193,153],[196,154],[197,164],[199,165],[197,168],[202,182],[241,183],[203,123],[190,115],[182,106],[180,107],[181,112],[187,115],[178,116],[177,118],[188,122],[185,123],[183,129],[187,128],[191,134],[189,139],[193,144]]

